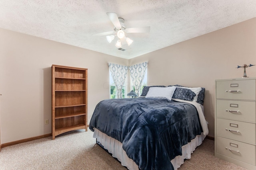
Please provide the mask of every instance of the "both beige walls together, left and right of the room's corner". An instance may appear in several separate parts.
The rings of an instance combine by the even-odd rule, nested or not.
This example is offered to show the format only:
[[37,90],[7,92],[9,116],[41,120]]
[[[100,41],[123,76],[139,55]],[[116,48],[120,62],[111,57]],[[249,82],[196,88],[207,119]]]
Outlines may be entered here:
[[[256,18],[126,60],[0,29],[1,144],[51,133],[52,64],[88,68],[88,121],[109,98],[108,62],[148,61],[148,85],[205,87],[205,115],[214,137],[214,80],[238,78],[256,64]],[[256,66],[247,69],[256,77]]]

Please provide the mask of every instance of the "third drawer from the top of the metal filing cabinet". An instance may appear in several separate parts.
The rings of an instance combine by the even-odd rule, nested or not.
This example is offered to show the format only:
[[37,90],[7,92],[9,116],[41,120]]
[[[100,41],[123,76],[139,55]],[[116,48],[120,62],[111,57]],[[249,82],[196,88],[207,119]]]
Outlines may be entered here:
[[255,144],[255,123],[216,118],[216,135]]

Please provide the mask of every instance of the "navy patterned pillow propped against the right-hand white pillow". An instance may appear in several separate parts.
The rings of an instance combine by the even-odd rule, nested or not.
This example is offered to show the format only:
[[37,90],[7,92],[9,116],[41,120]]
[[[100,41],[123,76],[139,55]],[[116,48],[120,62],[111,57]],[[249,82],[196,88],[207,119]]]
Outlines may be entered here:
[[174,91],[172,98],[186,100],[186,101],[193,101],[196,94],[192,92],[192,90],[187,88],[178,88]]

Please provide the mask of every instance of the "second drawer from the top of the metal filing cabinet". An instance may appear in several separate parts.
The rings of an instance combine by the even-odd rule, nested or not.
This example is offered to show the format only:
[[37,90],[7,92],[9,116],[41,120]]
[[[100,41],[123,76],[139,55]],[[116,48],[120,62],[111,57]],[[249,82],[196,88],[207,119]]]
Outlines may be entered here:
[[256,102],[216,100],[216,117],[255,122]]

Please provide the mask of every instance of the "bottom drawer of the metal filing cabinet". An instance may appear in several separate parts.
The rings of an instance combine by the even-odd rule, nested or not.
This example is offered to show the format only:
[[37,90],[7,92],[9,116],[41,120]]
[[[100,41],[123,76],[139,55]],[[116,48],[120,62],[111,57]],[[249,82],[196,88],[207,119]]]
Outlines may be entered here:
[[255,145],[217,136],[216,152],[255,166]]

